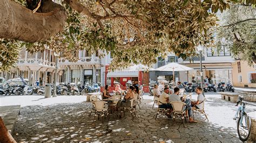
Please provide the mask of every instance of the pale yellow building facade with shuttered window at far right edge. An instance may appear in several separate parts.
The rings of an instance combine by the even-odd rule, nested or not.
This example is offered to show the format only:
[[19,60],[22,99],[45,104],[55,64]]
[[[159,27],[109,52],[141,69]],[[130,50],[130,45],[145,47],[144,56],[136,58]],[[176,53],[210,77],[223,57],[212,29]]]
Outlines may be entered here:
[[241,60],[232,63],[233,84],[235,87],[256,88],[256,64],[252,67]]

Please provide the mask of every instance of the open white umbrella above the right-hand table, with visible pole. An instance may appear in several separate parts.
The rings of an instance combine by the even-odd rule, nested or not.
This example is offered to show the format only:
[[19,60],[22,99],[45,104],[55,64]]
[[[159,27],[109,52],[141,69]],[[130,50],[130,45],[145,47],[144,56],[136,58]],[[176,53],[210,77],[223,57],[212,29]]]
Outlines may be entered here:
[[163,67],[157,68],[156,70],[159,70],[159,71],[173,71],[173,85],[174,85],[174,71],[187,71],[187,70],[192,70],[192,68],[180,65],[180,64],[175,63],[175,62],[172,62],[172,63],[169,63],[169,64],[163,66]]

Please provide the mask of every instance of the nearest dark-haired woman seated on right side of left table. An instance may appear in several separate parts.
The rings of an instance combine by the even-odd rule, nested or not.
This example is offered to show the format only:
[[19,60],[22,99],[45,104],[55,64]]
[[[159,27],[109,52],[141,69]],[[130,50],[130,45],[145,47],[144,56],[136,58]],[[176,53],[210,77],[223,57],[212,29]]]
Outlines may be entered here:
[[131,106],[130,100],[135,97],[134,92],[132,92],[133,90],[134,90],[134,87],[130,86],[129,89],[128,89],[127,94],[124,96],[123,101],[118,101],[117,108],[130,107]]

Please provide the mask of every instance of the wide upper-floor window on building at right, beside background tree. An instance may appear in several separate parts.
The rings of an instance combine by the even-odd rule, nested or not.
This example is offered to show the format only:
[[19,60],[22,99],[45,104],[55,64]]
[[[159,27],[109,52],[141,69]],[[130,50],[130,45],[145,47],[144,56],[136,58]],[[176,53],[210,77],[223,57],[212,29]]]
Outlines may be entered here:
[[231,56],[230,45],[221,45],[220,51],[217,48],[208,48],[207,56]]

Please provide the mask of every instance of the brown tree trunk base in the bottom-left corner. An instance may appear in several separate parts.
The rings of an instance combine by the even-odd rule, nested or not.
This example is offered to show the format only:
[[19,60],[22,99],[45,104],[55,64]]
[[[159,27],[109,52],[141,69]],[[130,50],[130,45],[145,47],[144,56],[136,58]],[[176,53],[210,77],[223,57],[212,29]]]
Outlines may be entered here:
[[16,142],[15,139],[8,132],[4,125],[3,119],[0,117],[0,142]]

